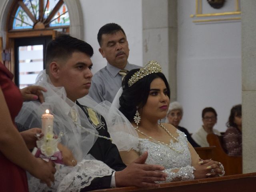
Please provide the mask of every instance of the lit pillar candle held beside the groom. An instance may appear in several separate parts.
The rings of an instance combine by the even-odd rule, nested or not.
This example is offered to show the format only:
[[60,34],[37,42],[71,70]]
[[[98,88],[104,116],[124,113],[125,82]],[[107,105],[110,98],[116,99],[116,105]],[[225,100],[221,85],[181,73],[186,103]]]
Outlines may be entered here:
[[46,109],[45,114],[42,114],[42,133],[44,136],[53,134],[53,118],[48,109]]

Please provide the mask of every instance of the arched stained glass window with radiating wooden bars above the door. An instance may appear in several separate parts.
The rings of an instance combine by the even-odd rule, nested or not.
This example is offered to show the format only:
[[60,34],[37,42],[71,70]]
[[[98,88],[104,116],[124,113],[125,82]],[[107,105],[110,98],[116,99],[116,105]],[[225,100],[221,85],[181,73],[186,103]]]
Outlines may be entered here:
[[70,25],[63,0],[17,0],[11,30],[66,28]]

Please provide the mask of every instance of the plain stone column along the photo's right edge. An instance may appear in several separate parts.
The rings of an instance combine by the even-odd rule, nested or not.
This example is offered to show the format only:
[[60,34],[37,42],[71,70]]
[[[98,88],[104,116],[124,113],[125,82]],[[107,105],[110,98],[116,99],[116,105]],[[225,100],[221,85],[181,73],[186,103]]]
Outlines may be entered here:
[[256,172],[256,2],[241,1],[243,172]]

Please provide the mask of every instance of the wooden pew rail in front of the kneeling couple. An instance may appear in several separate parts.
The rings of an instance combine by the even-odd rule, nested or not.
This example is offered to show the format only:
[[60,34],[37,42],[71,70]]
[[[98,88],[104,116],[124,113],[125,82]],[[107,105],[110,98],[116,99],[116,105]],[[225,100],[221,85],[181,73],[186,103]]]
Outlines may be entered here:
[[255,192],[256,173],[160,184],[159,188],[120,187],[93,192]]

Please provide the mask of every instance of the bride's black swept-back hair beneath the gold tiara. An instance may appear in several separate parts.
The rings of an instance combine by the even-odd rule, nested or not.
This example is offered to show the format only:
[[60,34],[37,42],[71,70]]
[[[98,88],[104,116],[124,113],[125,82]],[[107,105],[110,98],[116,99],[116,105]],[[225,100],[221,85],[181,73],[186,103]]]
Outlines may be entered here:
[[170,98],[170,87],[164,74],[152,73],[138,80],[131,87],[128,86],[128,80],[131,76],[140,69],[130,70],[124,77],[122,82],[123,93],[119,98],[119,110],[126,116],[129,121],[132,121],[136,113],[136,106],[142,108],[147,100],[150,92],[150,84],[156,78],[161,78],[167,88],[167,95]]

